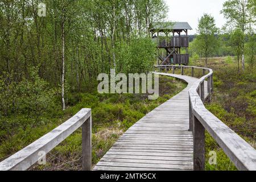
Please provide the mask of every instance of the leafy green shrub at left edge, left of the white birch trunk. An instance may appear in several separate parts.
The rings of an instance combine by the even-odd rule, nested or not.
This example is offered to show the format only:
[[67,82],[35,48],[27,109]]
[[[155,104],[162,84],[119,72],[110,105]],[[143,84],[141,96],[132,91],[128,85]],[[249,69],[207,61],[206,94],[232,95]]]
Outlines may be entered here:
[[8,73],[0,77],[0,137],[9,137],[17,129],[44,124],[42,115],[52,110],[56,90],[39,78],[37,69],[30,72],[30,80],[13,80]]

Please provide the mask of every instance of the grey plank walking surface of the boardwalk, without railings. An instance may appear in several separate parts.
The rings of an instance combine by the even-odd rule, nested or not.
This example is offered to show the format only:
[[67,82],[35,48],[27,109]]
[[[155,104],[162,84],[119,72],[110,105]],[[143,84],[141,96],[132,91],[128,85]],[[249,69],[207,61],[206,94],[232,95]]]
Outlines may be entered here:
[[180,78],[188,82],[188,86],[131,126],[94,166],[94,171],[193,170],[188,89],[198,79],[158,74]]

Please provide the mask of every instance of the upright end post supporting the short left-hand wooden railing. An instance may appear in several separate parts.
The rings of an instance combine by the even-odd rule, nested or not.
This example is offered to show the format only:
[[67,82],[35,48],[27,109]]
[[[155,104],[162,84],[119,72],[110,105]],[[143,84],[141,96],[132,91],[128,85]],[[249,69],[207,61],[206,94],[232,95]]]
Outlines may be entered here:
[[92,116],[82,124],[82,171],[92,170]]

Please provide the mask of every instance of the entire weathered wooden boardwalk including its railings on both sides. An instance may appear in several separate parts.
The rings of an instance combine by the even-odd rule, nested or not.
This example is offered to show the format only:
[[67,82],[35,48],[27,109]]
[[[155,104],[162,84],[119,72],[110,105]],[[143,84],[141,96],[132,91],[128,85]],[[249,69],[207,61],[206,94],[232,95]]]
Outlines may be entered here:
[[[205,131],[212,136],[239,170],[256,170],[256,150],[204,107],[213,92],[213,71],[208,68],[169,66],[181,75],[156,73],[188,82],[187,88],[156,107],[130,127],[94,166],[98,170],[194,170],[205,169]],[[167,66],[156,65],[156,68]],[[203,77],[183,76],[184,69],[203,70]],[[207,75],[206,72],[208,72]],[[207,81],[208,82],[207,82]],[[0,162],[0,171],[26,170],[65,138],[82,127],[82,170],[92,169],[92,112],[76,115],[43,137]],[[193,131],[193,134],[192,132]]]

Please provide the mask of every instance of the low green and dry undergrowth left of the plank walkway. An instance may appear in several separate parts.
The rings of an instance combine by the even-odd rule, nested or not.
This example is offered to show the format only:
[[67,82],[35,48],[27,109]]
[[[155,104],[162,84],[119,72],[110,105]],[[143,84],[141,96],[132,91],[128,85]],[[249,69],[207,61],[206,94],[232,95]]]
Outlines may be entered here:
[[[88,92],[70,97],[69,105],[73,106],[68,107],[64,113],[59,107],[59,110],[48,110],[40,115],[40,122],[36,122],[37,125],[26,124],[25,126],[30,127],[23,127],[21,123],[34,123],[35,120],[27,118],[26,113],[19,113],[18,118],[21,123],[16,123],[17,126],[1,126],[11,135],[2,135],[4,137],[0,141],[0,158],[5,159],[34,142],[75,115],[80,109],[92,108],[92,163],[96,164],[124,131],[186,86],[184,82],[170,77],[160,77],[159,81],[160,97],[154,101],[148,100],[146,94],[99,94],[97,87],[94,86]],[[14,117],[7,117],[7,119],[14,123],[16,121]],[[81,169],[81,130],[77,130],[47,155],[46,166],[36,164],[31,169]]]

